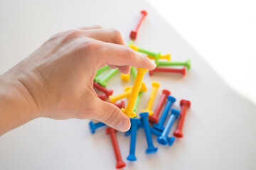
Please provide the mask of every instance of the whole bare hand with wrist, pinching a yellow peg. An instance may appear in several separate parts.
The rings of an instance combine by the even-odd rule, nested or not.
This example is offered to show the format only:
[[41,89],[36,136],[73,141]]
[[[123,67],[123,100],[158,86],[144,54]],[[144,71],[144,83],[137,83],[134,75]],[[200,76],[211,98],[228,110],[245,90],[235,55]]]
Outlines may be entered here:
[[120,131],[130,121],[117,106],[97,97],[93,78],[108,64],[154,69],[114,29],[91,26],[53,35],[31,55],[0,75],[0,135],[36,118],[96,119]]

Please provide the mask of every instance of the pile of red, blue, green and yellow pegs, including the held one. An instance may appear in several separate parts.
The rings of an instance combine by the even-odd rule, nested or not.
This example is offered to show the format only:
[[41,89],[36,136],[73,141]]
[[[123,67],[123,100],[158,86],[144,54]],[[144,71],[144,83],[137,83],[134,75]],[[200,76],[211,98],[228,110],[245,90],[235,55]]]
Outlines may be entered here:
[[[131,47],[134,51],[142,52],[146,54],[149,59],[155,60],[156,63],[156,69],[149,71],[149,75],[152,76],[155,72],[166,72],[171,74],[182,74],[183,76],[186,74],[186,69],[190,69],[191,61],[188,59],[186,62],[171,62],[171,55],[170,53],[166,55],[161,55],[161,52],[151,52],[149,50],[145,50],[141,47],[137,47],[134,45],[134,40],[137,38],[137,32],[139,30],[139,26],[142,24],[142,21],[146,17],[147,13],[146,11],[141,11],[141,18],[139,19],[139,23],[135,30],[132,30],[130,33],[130,42],[129,47]],[[167,67],[169,66],[169,67]],[[176,68],[176,66],[183,66],[183,68]],[[180,101],[180,111],[171,108],[176,101],[176,98],[171,96],[171,92],[163,89],[161,98],[155,108],[154,111],[151,111],[154,98],[156,96],[156,93],[159,89],[160,84],[156,81],[152,82],[152,89],[151,94],[149,97],[149,101],[147,103],[147,106],[144,110],[142,110],[142,113],[139,113],[139,116],[137,116],[137,107],[139,105],[139,100],[144,92],[146,92],[146,84],[142,82],[144,74],[148,72],[148,69],[140,68],[137,69],[132,67],[131,68],[131,74],[132,77],[134,77],[134,84],[133,86],[127,86],[124,89],[124,93],[119,94],[117,96],[112,96],[113,91],[106,89],[107,81],[109,81],[112,77],[114,77],[115,74],[117,74],[119,71],[118,69],[110,69],[110,72],[108,72],[104,78],[100,79],[99,76],[103,72],[106,72],[108,69],[110,69],[109,66],[102,67],[97,70],[97,73],[95,75],[94,79],[94,88],[102,91],[103,94],[98,95],[99,98],[101,98],[103,101],[110,101],[115,106],[119,107],[121,111],[129,116],[131,120],[131,128],[125,132],[125,136],[130,136],[130,147],[129,147],[129,155],[127,157],[128,161],[136,161],[137,158],[135,157],[135,145],[136,145],[136,136],[137,136],[137,130],[140,128],[144,129],[145,136],[146,136],[146,142],[148,145],[148,148],[146,149],[146,154],[155,153],[157,152],[158,148],[154,147],[154,143],[152,140],[152,134],[157,136],[157,142],[161,145],[173,145],[175,137],[183,137],[182,128],[183,123],[186,116],[186,111],[191,106],[191,102],[188,100],[181,100]],[[129,81],[129,74],[121,74],[121,79],[123,81]],[[120,101],[117,103],[117,101],[121,100],[122,98],[129,98],[127,102],[127,106],[125,106],[124,101]],[[164,104],[166,103],[165,107]],[[164,111],[161,113],[162,108],[164,107]],[[160,116],[161,115],[161,116]],[[139,117],[139,118],[138,118]],[[174,131],[174,137],[169,137],[169,132],[171,130],[171,127],[174,125],[174,122],[178,121],[176,130]],[[104,123],[93,123],[90,121],[89,128],[90,132],[93,134],[95,133],[95,130],[100,127],[107,127]],[[114,149],[114,155],[117,159],[116,168],[121,169],[126,164],[123,162],[119,145],[117,142],[116,137],[117,130],[114,130],[110,127],[107,127],[106,133],[110,135],[111,141],[112,141],[112,147]]]

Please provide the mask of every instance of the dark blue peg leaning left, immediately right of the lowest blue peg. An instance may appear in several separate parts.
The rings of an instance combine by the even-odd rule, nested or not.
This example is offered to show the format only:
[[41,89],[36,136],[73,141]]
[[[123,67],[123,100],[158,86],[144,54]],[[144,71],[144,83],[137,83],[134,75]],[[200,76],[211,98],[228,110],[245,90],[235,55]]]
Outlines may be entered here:
[[152,136],[149,128],[149,120],[148,120],[149,113],[144,112],[144,113],[140,113],[139,115],[142,118],[142,125],[146,135],[146,142],[148,144],[148,149],[146,149],[146,154],[154,153],[157,151],[158,148],[154,147],[153,145]]

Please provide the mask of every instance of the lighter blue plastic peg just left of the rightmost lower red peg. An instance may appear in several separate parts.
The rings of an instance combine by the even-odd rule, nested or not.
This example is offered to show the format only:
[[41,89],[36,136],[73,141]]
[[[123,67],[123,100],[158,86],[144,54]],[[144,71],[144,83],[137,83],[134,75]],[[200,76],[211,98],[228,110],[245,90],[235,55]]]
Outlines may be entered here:
[[[178,115],[180,114],[180,111],[172,108],[171,109],[171,115],[166,123],[166,127],[164,128],[163,133],[161,134],[161,136],[157,137],[157,142],[159,142],[159,144],[161,145],[166,145],[168,142],[168,134],[171,130],[172,125],[174,125],[174,121],[178,118]],[[175,137],[171,138],[174,142]]]

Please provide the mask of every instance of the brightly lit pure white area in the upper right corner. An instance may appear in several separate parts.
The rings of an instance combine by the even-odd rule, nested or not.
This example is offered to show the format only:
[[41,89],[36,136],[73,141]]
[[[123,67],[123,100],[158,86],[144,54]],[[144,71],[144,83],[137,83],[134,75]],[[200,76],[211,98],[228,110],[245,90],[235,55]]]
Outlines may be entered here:
[[256,103],[256,1],[148,1],[231,88]]

